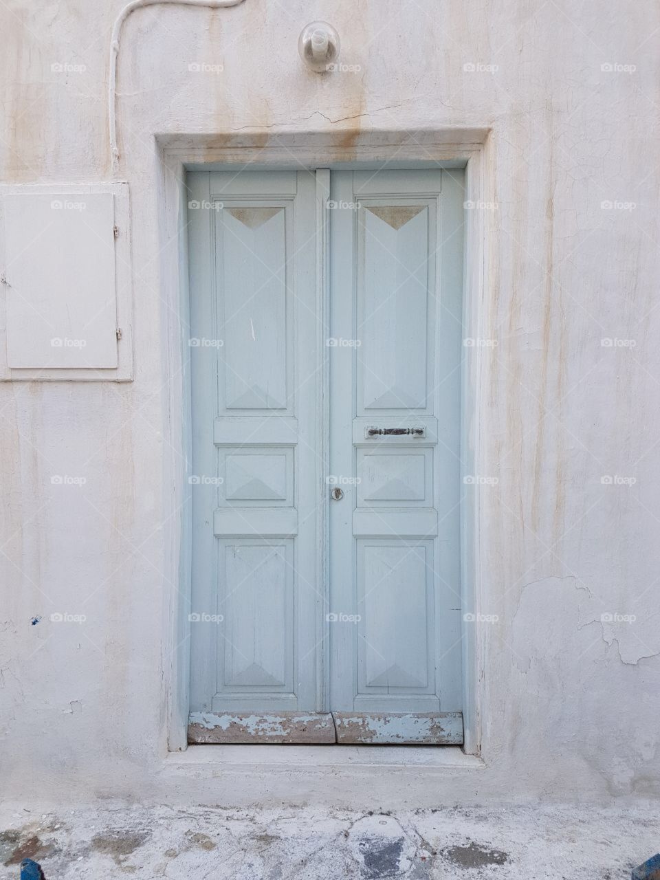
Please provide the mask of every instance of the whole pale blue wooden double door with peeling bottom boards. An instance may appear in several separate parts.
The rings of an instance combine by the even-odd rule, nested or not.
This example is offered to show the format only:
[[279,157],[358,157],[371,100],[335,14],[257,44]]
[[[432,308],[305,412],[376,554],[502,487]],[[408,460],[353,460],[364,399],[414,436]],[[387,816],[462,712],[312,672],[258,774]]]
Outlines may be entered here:
[[463,173],[189,183],[191,711],[460,742]]

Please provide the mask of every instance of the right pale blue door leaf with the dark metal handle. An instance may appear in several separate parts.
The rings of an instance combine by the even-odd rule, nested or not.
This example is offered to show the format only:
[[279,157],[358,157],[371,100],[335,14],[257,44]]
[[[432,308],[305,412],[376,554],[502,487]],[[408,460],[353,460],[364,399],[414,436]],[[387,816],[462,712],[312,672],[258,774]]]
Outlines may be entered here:
[[462,741],[461,183],[445,198],[440,171],[337,172],[331,187],[355,206],[330,237],[331,332],[348,340],[330,366],[340,742]]

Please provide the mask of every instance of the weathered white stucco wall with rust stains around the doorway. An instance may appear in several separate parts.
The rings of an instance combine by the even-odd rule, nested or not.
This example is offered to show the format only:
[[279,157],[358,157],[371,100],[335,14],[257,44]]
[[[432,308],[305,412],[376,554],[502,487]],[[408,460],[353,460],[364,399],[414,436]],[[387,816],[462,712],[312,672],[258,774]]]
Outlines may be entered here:
[[[246,0],[136,11],[121,37],[115,173],[106,92],[120,9],[12,0],[0,11],[3,181],[128,180],[135,333],[133,383],[0,385],[4,794],[379,796],[382,806],[656,796],[657,5]],[[312,18],[338,28],[341,60],[357,73],[302,69],[297,35]],[[482,625],[486,766],[367,767],[352,773],[356,789],[333,766],[256,769],[247,782],[202,764],[165,774],[181,379],[163,293],[176,238],[154,135],[222,146],[240,132],[273,146],[283,131],[312,129],[350,148],[375,129],[471,127],[490,129],[497,205],[482,304],[496,345],[484,349],[480,394],[481,473],[499,480],[482,489],[480,513],[481,611],[499,619]],[[52,485],[53,474],[86,483]],[[87,620],[53,623],[53,612]]]

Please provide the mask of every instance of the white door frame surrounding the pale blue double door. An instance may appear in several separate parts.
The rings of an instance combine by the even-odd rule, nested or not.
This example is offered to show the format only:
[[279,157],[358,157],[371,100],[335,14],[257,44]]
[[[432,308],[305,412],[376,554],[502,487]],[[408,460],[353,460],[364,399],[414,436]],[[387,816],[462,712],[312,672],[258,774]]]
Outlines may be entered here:
[[[215,142],[215,143],[214,143]],[[221,146],[217,146],[221,143]],[[331,133],[271,135],[264,145],[262,133],[253,136],[158,136],[155,163],[158,193],[158,220],[161,268],[161,332],[165,339],[167,375],[177,381],[165,383],[165,513],[163,613],[165,622],[163,665],[166,725],[164,740],[170,752],[187,748],[190,676],[191,609],[191,504],[188,477],[192,475],[192,425],[190,417],[189,290],[187,260],[187,171],[284,170],[297,168],[375,169],[387,168],[465,168],[466,203],[477,209],[466,210],[463,317],[465,337],[479,339],[487,325],[491,303],[487,290],[488,240],[492,237],[494,211],[478,206],[495,203],[492,146],[488,129],[453,129],[443,132],[371,132],[355,138],[341,137],[339,145]],[[329,179],[329,175],[328,175]],[[317,248],[317,297],[319,339],[326,336],[328,319],[328,275],[326,266],[328,217],[323,202],[329,180],[318,175],[317,216],[323,230]],[[469,257],[469,259],[468,259]],[[325,347],[320,348],[321,351]],[[462,477],[480,473],[483,462],[483,436],[480,413],[483,407],[481,377],[483,348],[464,347],[461,375],[461,460]],[[329,406],[327,364],[319,376],[319,407]],[[327,417],[324,420],[327,423]],[[323,456],[326,460],[329,437],[324,432]],[[481,467],[481,470],[483,468]],[[464,480],[465,485],[465,480]],[[325,488],[325,487],[323,487]],[[321,511],[323,540],[319,546],[319,566],[329,589],[328,516],[329,498]],[[480,544],[480,486],[473,481],[461,503],[461,595],[463,625],[463,718],[464,752],[480,754],[483,715],[484,658],[483,623],[480,623],[482,571]],[[319,624],[320,625],[320,624]],[[326,649],[327,651],[327,649]],[[326,651],[324,654],[326,655]],[[319,669],[326,675],[327,657]],[[320,683],[319,683],[320,684]],[[216,746],[222,748],[222,746]]]

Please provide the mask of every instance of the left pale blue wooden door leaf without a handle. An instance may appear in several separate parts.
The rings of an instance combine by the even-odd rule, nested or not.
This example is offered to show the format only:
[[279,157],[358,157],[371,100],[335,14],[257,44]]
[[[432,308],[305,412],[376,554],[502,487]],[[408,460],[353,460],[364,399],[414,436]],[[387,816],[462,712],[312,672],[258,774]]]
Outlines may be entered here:
[[312,719],[322,613],[315,185],[305,172],[190,182],[190,737],[326,742],[329,715]]

